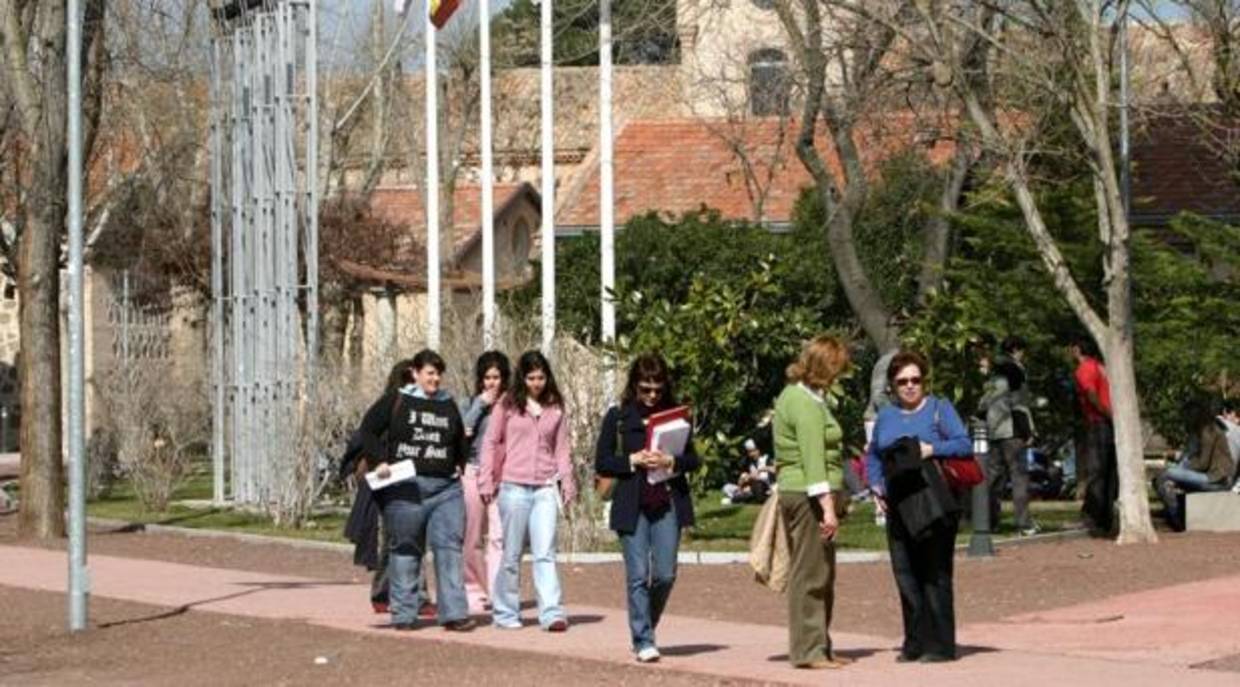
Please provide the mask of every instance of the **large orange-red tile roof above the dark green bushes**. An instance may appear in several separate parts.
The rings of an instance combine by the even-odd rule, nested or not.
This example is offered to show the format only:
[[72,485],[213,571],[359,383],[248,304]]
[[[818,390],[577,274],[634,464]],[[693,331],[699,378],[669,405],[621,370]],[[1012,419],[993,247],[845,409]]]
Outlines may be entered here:
[[[947,160],[955,145],[940,138],[940,129],[918,125],[910,113],[887,115],[858,135],[863,162],[873,171],[887,156],[908,146],[921,146],[935,164]],[[723,119],[637,120],[629,123],[615,144],[616,222],[660,211],[680,215],[703,205],[727,218],[756,217],[756,203],[746,188],[740,159],[750,159],[759,186],[769,188],[763,206],[766,222],[792,218],[801,188],[812,185],[796,156],[797,123],[777,118],[728,122]],[[828,166],[839,174],[830,143],[818,136]],[[769,180],[769,181],[768,181]],[[560,227],[595,227],[599,223],[598,160],[565,184],[557,203]]]

